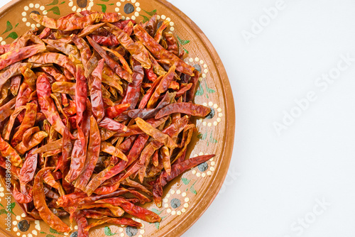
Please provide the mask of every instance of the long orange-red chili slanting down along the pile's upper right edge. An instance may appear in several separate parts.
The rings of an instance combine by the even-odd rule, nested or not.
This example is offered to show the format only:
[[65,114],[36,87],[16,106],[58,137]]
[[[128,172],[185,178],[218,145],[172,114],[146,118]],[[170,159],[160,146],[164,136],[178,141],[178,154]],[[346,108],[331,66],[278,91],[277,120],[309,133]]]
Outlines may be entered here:
[[159,60],[169,60],[171,65],[176,66],[178,72],[185,73],[187,75],[193,75],[194,67],[187,65],[184,61],[180,60],[179,57],[165,50],[159,43],[157,43],[151,35],[146,33],[146,31],[141,28],[141,26],[136,25],[133,28],[135,35],[138,39],[146,46],[146,48],[154,55],[154,57]]

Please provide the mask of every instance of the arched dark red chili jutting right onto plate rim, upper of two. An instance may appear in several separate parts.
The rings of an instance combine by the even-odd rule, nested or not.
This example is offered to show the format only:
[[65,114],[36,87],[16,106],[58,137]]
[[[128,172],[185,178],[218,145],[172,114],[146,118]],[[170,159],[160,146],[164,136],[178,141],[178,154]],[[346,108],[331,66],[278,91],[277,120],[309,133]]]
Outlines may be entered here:
[[190,114],[192,116],[204,117],[207,116],[210,112],[211,109],[209,109],[206,106],[181,102],[181,103],[174,103],[165,106],[163,109],[161,109],[158,112],[157,115],[155,115],[155,118],[161,118],[162,116],[167,116],[173,113]]

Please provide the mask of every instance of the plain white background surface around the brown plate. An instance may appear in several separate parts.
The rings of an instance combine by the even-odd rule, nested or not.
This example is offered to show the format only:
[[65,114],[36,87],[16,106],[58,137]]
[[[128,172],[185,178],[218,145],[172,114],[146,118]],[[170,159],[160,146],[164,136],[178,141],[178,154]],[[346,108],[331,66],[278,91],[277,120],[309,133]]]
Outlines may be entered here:
[[273,19],[275,0],[170,2],[212,41],[236,104],[222,192],[183,236],[355,236],[355,1],[285,0]]

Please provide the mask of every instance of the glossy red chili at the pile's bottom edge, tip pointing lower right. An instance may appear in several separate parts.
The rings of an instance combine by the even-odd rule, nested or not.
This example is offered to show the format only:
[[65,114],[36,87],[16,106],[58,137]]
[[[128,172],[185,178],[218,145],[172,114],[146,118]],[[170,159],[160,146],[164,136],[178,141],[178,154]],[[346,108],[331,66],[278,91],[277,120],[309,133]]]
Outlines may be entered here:
[[127,202],[126,200],[120,197],[113,197],[111,199],[102,199],[96,201],[95,203],[112,204],[115,206],[121,206],[121,208],[124,209],[124,211],[126,211],[128,214],[131,214],[132,216],[136,216],[139,219],[142,219],[143,221],[147,221],[150,223],[161,221],[160,216],[155,214],[153,211],[149,211],[148,209],[144,209],[141,206],[136,206],[134,204],[131,204],[131,202]]

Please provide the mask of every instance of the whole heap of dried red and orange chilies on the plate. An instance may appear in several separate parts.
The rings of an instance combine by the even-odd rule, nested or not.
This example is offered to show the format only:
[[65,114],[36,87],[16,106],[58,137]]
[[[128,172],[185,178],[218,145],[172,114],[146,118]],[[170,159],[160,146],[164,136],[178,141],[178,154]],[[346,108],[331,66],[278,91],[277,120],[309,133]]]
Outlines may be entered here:
[[[160,217],[170,180],[213,155],[186,159],[195,125],[210,109],[193,104],[199,72],[167,21],[123,21],[82,11],[0,46],[0,175],[26,219],[79,236],[100,224],[141,226]],[[9,162],[11,166],[9,166]],[[10,168],[9,168],[10,167]],[[87,219],[94,219],[88,223]]]

